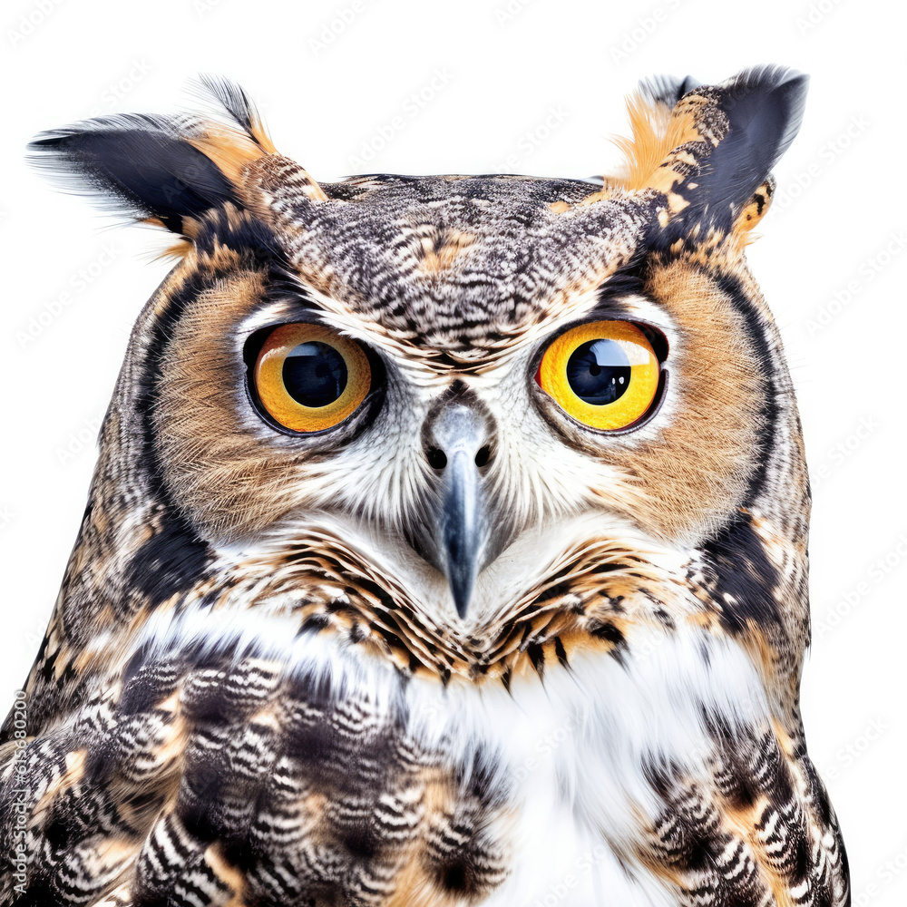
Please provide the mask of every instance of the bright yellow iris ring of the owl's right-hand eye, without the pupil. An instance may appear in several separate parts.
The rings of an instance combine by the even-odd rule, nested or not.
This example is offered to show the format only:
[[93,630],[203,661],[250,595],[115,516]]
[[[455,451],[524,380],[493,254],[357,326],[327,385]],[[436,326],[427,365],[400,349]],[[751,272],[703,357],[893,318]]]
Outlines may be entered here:
[[[629,361],[629,386],[613,403],[587,403],[576,395],[567,379],[567,364],[574,350],[590,340],[614,340]],[[658,392],[660,367],[658,356],[639,327],[626,321],[591,321],[572,327],[545,350],[539,384],[578,422],[601,431],[615,431],[646,414]]]

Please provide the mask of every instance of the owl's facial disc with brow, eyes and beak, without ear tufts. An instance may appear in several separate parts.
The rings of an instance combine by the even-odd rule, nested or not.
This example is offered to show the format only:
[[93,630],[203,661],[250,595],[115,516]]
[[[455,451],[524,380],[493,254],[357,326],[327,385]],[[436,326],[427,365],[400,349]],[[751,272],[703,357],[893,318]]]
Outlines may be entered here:
[[483,574],[521,542],[532,560],[598,522],[687,547],[742,502],[769,391],[756,349],[714,278],[612,285],[638,253],[621,248],[639,222],[625,198],[583,207],[600,187],[521,178],[323,190],[320,229],[279,247],[279,278],[206,223],[213,254],[239,260],[186,299],[161,350],[154,444],[204,538],[325,524],[450,618],[473,587],[492,607]]

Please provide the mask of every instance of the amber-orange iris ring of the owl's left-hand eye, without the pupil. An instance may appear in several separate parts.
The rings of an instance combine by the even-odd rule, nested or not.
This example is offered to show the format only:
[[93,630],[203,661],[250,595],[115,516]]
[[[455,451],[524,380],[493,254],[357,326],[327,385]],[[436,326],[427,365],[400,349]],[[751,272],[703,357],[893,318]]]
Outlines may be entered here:
[[[326,406],[305,406],[289,395],[283,379],[287,356],[299,344],[323,343],[332,346],[346,363],[346,387]],[[372,385],[372,369],[362,347],[324,325],[293,324],[276,327],[258,353],[253,372],[261,405],[285,428],[294,432],[322,432],[333,428],[366,399]]]

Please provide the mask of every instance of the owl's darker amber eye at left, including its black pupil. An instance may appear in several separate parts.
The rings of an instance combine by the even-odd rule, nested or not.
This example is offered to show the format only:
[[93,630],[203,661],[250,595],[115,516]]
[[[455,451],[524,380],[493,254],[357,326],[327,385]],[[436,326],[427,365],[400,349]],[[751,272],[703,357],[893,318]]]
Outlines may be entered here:
[[368,357],[355,341],[321,325],[281,325],[268,334],[253,372],[261,405],[294,432],[343,422],[372,384]]

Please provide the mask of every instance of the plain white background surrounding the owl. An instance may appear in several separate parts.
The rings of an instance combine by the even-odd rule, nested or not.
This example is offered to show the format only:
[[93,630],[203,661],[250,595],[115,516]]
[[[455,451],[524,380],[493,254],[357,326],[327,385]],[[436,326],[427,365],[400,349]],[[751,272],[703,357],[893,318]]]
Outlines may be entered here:
[[[169,267],[153,260],[167,245],[154,231],[117,227],[26,169],[24,144],[36,132],[97,113],[191,107],[189,80],[210,72],[243,84],[278,149],[319,180],[356,171],[588,176],[616,160],[608,136],[626,130],[622,95],[640,77],[714,82],[786,63],[813,81],[750,260],[785,339],[814,478],[805,725],[844,828],[854,902],[900,907],[902,9],[865,0],[353,7],[5,3],[0,696],[12,697],[34,658],[128,331]],[[35,331],[33,318],[46,324]],[[29,327],[36,336],[25,341]]]

